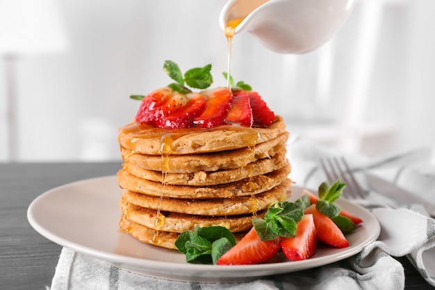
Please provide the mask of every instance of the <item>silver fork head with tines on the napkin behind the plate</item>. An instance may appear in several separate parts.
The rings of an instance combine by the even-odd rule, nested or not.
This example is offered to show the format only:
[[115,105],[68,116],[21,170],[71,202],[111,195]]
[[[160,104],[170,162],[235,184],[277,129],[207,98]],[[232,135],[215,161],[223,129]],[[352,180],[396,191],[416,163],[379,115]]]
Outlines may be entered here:
[[356,181],[352,170],[350,170],[345,158],[327,157],[320,159],[320,165],[325,172],[327,178],[334,182],[338,178],[345,182],[346,186],[343,190],[343,195],[346,198],[363,199],[366,197],[366,193]]

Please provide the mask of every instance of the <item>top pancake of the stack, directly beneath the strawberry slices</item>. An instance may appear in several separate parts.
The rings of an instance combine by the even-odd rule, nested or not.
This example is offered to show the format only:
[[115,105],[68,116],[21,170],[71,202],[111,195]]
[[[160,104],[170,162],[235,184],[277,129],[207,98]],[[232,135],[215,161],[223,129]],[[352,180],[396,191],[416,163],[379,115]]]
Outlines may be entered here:
[[118,141],[127,150],[140,154],[199,154],[254,147],[286,131],[281,116],[267,128],[224,124],[211,129],[161,129],[132,122],[120,129]]

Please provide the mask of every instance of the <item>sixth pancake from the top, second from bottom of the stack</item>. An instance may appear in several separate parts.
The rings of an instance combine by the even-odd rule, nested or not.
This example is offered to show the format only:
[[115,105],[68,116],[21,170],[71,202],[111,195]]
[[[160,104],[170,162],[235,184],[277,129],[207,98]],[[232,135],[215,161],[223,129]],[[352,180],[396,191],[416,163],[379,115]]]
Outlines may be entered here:
[[[120,202],[120,208],[124,216],[129,220],[145,225],[151,229],[156,229],[157,210],[138,207],[135,204],[130,204],[125,200]],[[193,230],[195,227],[208,227],[211,225],[220,225],[227,227],[230,232],[243,232],[252,227],[252,218],[258,216],[262,218],[265,211],[261,211],[256,215],[244,216],[197,216],[188,214],[177,214],[170,211],[161,211],[160,215],[165,216],[164,223],[161,223],[158,230],[164,232],[184,232]]]

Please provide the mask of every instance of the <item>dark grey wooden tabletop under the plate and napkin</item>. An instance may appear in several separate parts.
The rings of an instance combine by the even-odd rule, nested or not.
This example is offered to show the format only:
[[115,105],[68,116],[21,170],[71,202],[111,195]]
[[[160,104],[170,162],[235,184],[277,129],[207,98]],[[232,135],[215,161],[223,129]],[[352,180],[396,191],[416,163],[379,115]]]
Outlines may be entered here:
[[[45,289],[61,247],[28,224],[28,205],[51,188],[91,177],[115,175],[120,162],[0,163],[0,289]],[[434,289],[406,258],[405,289]]]

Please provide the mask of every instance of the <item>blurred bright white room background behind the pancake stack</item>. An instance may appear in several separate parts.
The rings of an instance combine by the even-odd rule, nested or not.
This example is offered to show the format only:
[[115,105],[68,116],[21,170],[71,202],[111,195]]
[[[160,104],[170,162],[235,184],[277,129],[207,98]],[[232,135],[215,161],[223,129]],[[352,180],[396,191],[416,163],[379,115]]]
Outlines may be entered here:
[[[224,0],[33,2],[54,4],[63,45],[14,54],[11,157],[0,35],[0,161],[120,159],[117,129],[140,104],[129,95],[170,83],[167,59],[183,71],[211,63],[214,86],[225,85]],[[357,1],[334,39],[304,55],[268,51],[240,33],[231,72],[284,115],[294,135],[368,155],[432,146],[434,15],[433,0]]]

